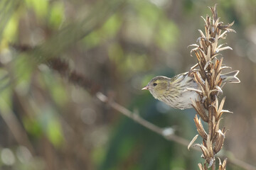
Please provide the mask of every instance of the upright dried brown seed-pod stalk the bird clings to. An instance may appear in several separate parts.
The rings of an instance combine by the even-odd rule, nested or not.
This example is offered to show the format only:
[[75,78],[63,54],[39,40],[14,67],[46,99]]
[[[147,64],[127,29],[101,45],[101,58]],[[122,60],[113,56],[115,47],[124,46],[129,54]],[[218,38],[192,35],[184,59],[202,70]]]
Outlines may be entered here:
[[[203,164],[198,164],[199,169],[206,170],[208,168],[215,169],[215,154],[217,154],[223,147],[225,139],[225,128],[220,129],[220,120],[223,113],[230,113],[230,111],[223,110],[225,98],[218,102],[218,95],[222,93],[221,86],[223,85],[223,79],[220,76],[223,69],[230,68],[223,66],[223,58],[217,59],[218,52],[223,50],[232,50],[231,47],[223,47],[218,45],[218,40],[225,39],[228,32],[235,32],[230,27],[233,23],[228,25],[222,25],[219,21],[216,5],[210,7],[212,18],[206,16],[203,18],[205,21],[205,33],[199,30],[201,34],[198,38],[199,45],[193,44],[195,47],[191,50],[191,55],[195,54],[198,63],[191,68],[192,76],[197,82],[199,89],[196,92],[200,96],[199,101],[192,101],[193,108],[195,108],[197,114],[194,118],[198,134],[203,138],[202,144],[196,144],[200,147],[205,159]],[[224,31],[222,33],[222,31]],[[196,67],[199,67],[196,69]],[[236,78],[236,77],[235,77]],[[236,78],[237,79],[237,78]],[[240,82],[237,79],[237,82]],[[192,89],[193,90],[193,89]],[[198,118],[199,115],[199,118]],[[203,128],[201,119],[208,123],[208,132]],[[191,143],[195,141],[195,137]],[[191,144],[190,144],[191,145]],[[225,170],[227,159],[223,162],[219,159],[219,170]]]

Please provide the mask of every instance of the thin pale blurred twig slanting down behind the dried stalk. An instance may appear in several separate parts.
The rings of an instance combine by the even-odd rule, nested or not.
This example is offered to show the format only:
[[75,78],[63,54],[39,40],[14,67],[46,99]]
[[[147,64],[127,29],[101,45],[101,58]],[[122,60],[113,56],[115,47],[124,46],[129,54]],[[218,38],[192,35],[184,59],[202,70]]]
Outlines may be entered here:
[[[148,128],[149,130],[156,132],[157,134],[161,135],[162,137],[166,138],[166,140],[177,142],[178,144],[188,146],[189,141],[183,139],[182,137],[179,137],[174,134],[174,130],[171,130],[171,128],[159,128],[158,126],[148,122],[144,118],[140,117],[138,113],[133,113],[132,111],[129,111],[127,108],[124,108],[123,106],[119,105],[118,103],[110,100],[107,96],[102,94],[101,92],[97,92],[96,94],[97,98],[100,99],[100,101],[107,103],[109,106],[114,108],[114,110],[119,111],[120,113],[126,115],[128,118],[131,118],[135,122],[139,123],[140,125],[144,126],[145,128]],[[193,149],[197,151],[201,151],[198,147],[192,147]],[[218,154],[218,156],[222,156]],[[235,164],[236,166],[241,167],[242,169],[247,170],[256,170],[255,166],[252,166],[250,164],[247,164],[246,162],[242,162],[239,159],[236,159],[233,155],[229,154],[228,157],[229,161],[232,164]]]

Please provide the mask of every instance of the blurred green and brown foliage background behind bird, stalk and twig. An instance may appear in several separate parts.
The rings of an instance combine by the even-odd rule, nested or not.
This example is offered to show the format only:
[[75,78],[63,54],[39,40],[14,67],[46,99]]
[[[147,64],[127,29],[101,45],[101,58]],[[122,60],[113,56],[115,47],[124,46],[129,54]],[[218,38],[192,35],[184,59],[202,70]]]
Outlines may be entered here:
[[221,21],[235,21],[223,57],[241,80],[223,89],[234,112],[223,115],[223,154],[256,166],[255,0],[1,0],[0,169],[198,169],[200,152],[134,123],[95,91],[191,140],[195,111],[141,89],[196,64],[188,45],[216,3]]

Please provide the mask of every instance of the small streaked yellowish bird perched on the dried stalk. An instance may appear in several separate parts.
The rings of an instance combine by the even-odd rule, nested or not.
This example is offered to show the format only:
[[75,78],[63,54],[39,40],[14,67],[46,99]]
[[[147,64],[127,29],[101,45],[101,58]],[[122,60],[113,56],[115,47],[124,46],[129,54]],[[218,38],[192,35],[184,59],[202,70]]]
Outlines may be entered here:
[[[200,100],[200,96],[196,91],[190,89],[201,88],[194,80],[193,76],[185,72],[178,74],[172,78],[157,76],[149,81],[142,90],[149,90],[152,96],[159,101],[166,103],[171,108],[187,109],[192,108],[191,100]],[[240,83],[238,77],[239,70],[221,74],[220,79],[223,83]]]

